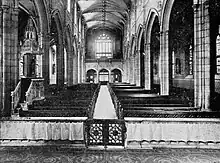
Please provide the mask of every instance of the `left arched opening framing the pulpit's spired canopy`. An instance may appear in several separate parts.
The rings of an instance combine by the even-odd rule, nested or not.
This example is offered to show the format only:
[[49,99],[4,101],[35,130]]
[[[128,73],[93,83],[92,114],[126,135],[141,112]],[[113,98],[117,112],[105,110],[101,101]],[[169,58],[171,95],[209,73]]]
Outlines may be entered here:
[[20,78],[41,77],[42,56],[40,55],[35,20],[21,8],[18,19],[19,76]]

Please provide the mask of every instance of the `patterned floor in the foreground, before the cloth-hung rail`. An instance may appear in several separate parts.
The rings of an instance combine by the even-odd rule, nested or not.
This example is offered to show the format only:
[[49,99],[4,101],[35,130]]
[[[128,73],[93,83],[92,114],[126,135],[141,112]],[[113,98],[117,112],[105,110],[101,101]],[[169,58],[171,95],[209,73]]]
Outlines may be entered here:
[[0,147],[1,163],[220,163],[211,149],[85,149],[58,146]]

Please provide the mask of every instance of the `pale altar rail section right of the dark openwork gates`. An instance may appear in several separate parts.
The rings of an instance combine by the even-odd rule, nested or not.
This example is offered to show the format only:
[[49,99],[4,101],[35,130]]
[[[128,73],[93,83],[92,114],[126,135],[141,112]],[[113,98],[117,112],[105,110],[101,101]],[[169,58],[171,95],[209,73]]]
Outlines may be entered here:
[[220,148],[217,118],[125,118],[127,148]]

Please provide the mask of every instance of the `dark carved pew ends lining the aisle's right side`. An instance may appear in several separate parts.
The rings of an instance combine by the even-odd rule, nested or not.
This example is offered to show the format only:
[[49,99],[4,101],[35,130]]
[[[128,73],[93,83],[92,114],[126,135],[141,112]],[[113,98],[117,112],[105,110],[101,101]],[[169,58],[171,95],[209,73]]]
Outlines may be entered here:
[[112,88],[111,88],[109,83],[108,83],[107,86],[108,86],[108,90],[110,92],[110,95],[111,95],[111,98],[112,98],[112,102],[114,104],[115,111],[116,111],[116,114],[118,116],[118,119],[123,119],[121,103],[118,100],[117,96],[115,95],[115,92],[112,90]]

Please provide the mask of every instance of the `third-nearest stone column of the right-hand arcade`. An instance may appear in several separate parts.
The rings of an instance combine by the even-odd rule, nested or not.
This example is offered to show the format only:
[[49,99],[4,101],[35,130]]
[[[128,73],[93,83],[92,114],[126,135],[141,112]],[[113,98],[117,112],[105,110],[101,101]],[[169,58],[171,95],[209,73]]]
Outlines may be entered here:
[[151,90],[151,53],[150,53],[150,43],[146,45],[145,53],[145,89]]

